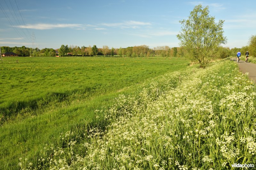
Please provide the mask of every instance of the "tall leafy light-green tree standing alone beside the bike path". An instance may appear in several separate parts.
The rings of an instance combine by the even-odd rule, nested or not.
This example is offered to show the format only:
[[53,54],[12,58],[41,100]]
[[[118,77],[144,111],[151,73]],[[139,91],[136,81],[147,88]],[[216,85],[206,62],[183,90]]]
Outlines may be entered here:
[[209,7],[197,5],[190,12],[188,19],[180,20],[181,31],[177,35],[180,46],[187,51],[192,62],[200,64],[201,68],[214,59],[221,44],[226,44],[223,36],[223,20],[215,23],[215,17],[209,15]]

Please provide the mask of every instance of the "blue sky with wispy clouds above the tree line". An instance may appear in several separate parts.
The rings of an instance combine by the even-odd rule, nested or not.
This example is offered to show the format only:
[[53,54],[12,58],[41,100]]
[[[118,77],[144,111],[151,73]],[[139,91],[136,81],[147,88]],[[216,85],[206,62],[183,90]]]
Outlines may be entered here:
[[39,49],[61,44],[178,47],[179,20],[188,18],[198,4],[208,5],[216,22],[225,20],[224,47],[245,46],[256,34],[256,1],[1,0],[0,4],[0,46],[32,47],[33,32]]

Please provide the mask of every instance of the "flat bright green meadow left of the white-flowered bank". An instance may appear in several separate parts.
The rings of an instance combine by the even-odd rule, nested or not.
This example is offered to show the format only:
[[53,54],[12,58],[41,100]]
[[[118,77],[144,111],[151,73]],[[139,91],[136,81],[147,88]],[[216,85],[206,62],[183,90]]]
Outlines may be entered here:
[[163,57],[4,57],[0,169],[17,169],[20,157],[36,160],[63,131],[104,127],[96,109],[108,108],[118,94],[132,94],[148,78],[187,65]]

